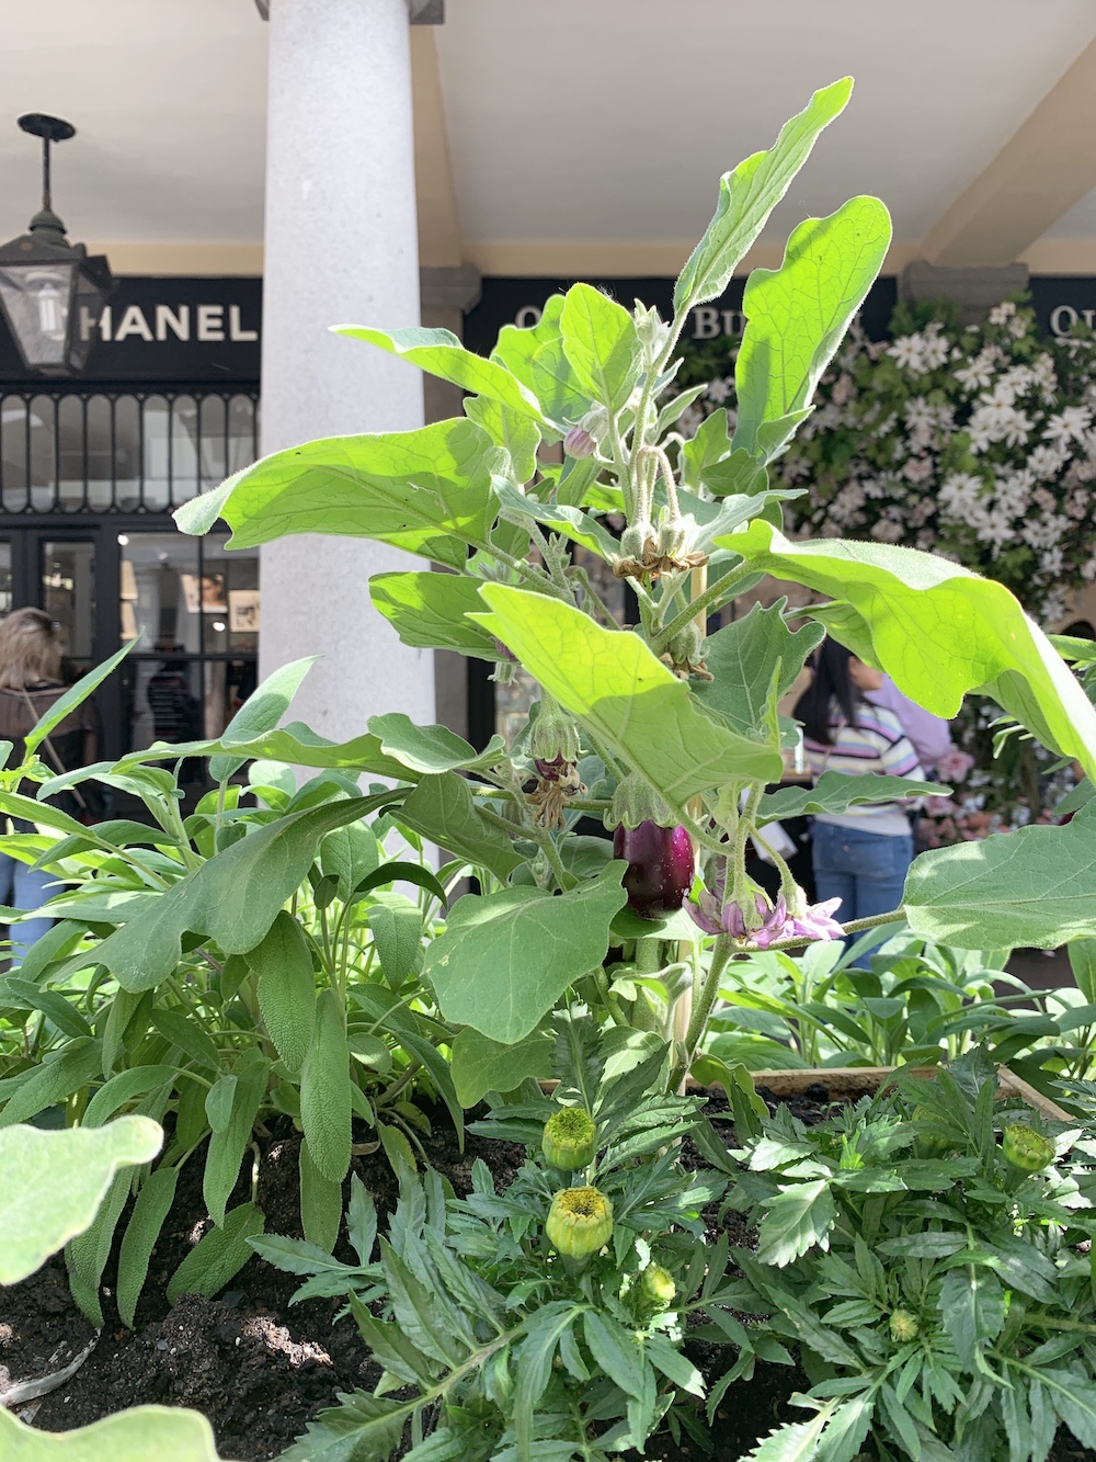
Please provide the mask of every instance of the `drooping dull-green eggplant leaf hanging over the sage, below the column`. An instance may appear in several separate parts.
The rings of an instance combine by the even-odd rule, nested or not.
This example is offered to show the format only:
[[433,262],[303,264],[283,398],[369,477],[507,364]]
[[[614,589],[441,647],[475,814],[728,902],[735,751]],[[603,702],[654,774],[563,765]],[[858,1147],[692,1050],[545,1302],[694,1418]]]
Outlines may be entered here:
[[[140,991],[172,972],[184,934],[205,934],[224,953],[246,955],[307,877],[323,835],[376,810],[386,795],[324,803],[250,832],[161,893],[155,918],[136,918],[110,934],[95,959],[124,990]],[[70,966],[86,962],[77,955]]]

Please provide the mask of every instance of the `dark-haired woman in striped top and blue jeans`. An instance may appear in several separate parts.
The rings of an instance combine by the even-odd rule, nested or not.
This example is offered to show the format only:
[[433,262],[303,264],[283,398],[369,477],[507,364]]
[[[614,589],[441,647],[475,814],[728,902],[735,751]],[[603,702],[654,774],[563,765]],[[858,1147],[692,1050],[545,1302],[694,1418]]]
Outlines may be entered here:
[[[823,772],[924,775],[894,712],[864,699],[881,684],[881,671],[836,640],[823,642],[814,678],[795,706],[815,781]],[[913,861],[905,806],[862,803],[843,813],[818,814],[813,860],[815,898],[839,898],[842,923],[888,914],[902,904],[906,871]]]

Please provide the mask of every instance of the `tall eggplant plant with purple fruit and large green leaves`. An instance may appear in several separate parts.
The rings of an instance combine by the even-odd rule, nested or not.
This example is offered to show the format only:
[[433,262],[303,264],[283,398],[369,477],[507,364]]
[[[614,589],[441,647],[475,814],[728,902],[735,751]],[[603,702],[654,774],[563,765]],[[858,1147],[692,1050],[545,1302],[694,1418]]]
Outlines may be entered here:
[[[745,868],[747,845],[764,846],[782,816],[926,789],[836,772],[814,789],[767,789],[799,734],[779,697],[824,632],[928,711],[951,716],[979,692],[1096,775],[1096,712],[1007,589],[909,548],[780,532],[795,490],[773,488],[767,466],[810,417],[886,257],[878,199],[807,219],[779,268],[753,270],[737,415],[716,411],[691,437],[678,430],[699,389],[674,387],[690,310],[723,292],[850,91],[849,79],[821,89],[770,151],[723,175],[669,320],[577,284],[535,326],[504,327],[488,358],[447,330],[338,326],[462,387],[463,415],[295,446],[175,515],[193,534],[227,520],[238,548],[302,532],[395,544],[421,564],[376,575],[370,595],[405,643],[481,658],[503,680],[520,665],[539,686],[538,715],[510,746],[495,737],[476,753],[443,728],[381,715],[339,747],[291,732],[285,757],[409,775],[400,817],[485,868],[422,971],[460,1028],[453,1069],[468,1102],[544,1073],[545,1020],[568,988],[606,1020],[672,1038],[668,1079],[680,1083],[735,953],[872,923],[808,908],[777,854],[776,901]],[[563,462],[542,463],[542,443],[563,443]],[[636,626],[606,608],[590,556],[627,582]],[[798,629],[789,621],[804,611],[777,604],[706,636],[707,618],[761,575],[823,602]],[[197,743],[194,754],[209,750]],[[624,827],[625,857],[576,836],[583,814]],[[633,860],[628,833],[644,823],[672,836]],[[694,887],[666,908],[684,889],[685,836]],[[1083,808],[1067,827],[924,854],[902,905],[880,918],[959,947],[1054,947],[1096,933],[1095,864],[1096,819]]]

